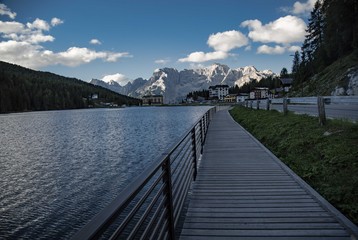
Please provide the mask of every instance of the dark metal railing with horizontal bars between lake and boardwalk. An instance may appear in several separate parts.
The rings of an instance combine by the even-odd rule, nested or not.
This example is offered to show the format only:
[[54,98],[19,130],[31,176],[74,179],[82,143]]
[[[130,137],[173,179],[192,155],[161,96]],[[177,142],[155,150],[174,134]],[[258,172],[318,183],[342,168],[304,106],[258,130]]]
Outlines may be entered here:
[[72,239],[175,239],[215,111],[209,109],[179,143],[145,169]]

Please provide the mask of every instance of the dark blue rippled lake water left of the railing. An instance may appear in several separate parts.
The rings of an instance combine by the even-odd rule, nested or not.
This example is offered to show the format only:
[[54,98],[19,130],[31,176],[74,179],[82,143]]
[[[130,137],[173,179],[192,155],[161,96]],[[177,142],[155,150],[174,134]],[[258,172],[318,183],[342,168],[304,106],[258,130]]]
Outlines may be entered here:
[[209,107],[0,115],[0,239],[68,239]]

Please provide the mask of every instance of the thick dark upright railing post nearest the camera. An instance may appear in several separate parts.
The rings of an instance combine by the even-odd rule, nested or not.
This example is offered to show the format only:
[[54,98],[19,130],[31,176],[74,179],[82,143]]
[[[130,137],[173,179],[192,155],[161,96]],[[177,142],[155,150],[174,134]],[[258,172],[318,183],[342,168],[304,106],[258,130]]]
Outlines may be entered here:
[[165,196],[166,196],[166,208],[168,212],[168,234],[169,239],[175,239],[175,226],[174,226],[174,207],[173,207],[173,190],[172,190],[172,173],[170,168],[170,157],[168,156],[162,166],[165,181]]

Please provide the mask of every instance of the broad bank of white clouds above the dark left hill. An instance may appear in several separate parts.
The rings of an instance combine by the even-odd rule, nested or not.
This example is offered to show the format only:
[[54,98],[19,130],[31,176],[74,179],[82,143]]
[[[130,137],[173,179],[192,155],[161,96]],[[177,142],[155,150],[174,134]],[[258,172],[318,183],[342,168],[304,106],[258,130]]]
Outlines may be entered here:
[[[0,9],[2,15],[11,12],[3,4]],[[62,52],[45,49],[41,43],[52,42],[55,38],[44,32],[62,23],[59,18],[52,18],[50,24],[39,18],[26,24],[0,21],[0,36],[4,39],[0,42],[1,60],[38,69],[57,64],[75,67],[97,59],[115,62],[123,57],[132,57],[128,52],[95,51],[83,47],[69,47]]]

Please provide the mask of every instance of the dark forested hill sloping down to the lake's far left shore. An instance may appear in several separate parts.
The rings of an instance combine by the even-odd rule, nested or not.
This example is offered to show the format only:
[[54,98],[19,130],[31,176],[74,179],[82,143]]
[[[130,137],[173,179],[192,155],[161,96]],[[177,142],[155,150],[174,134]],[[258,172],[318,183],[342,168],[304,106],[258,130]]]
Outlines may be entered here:
[[[93,98],[92,96],[98,96]],[[139,99],[49,72],[0,61],[0,113],[138,105]]]

